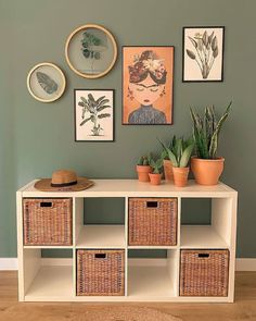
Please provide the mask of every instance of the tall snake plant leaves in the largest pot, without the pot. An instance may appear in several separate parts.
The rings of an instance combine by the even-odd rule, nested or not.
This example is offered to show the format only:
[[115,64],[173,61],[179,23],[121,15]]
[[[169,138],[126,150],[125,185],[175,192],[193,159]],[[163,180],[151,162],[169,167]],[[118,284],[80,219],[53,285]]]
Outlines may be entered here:
[[194,109],[190,108],[193,121],[193,137],[196,155],[201,159],[215,159],[218,149],[218,136],[223,122],[229,115],[232,101],[228,104],[225,113],[217,120],[215,108],[206,107],[204,114],[200,115]]

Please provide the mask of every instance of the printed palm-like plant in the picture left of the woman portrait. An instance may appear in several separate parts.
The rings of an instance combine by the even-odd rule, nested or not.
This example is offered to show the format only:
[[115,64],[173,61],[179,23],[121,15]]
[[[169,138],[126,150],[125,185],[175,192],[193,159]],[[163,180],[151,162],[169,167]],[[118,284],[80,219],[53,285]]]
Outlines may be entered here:
[[88,97],[80,97],[78,106],[82,108],[81,110],[81,123],[80,126],[84,126],[88,122],[93,124],[91,133],[92,136],[100,136],[101,132],[104,132],[104,128],[99,123],[99,120],[111,118],[111,113],[102,112],[105,109],[112,108],[110,104],[110,99],[106,99],[105,96],[102,96],[94,99],[92,94],[88,94]]

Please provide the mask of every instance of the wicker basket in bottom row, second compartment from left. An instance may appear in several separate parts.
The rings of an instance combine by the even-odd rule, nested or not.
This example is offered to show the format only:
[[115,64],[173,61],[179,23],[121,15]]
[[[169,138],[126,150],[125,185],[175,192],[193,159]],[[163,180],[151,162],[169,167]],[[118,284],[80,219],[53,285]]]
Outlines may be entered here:
[[77,250],[77,295],[125,295],[125,250]]

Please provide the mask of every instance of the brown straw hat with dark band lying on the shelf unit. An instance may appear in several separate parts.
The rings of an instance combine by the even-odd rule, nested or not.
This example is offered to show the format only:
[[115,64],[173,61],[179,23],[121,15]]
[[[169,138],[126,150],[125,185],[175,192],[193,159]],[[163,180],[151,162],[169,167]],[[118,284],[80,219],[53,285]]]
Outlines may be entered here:
[[87,189],[93,184],[86,177],[77,177],[74,171],[59,170],[52,173],[51,178],[42,178],[34,186],[42,192],[78,192]]

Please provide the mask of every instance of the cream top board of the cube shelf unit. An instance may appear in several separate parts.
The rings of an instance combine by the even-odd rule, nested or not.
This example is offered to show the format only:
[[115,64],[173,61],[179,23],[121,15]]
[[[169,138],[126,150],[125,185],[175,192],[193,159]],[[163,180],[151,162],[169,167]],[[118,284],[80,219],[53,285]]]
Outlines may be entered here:
[[185,187],[176,187],[172,183],[162,182],[155,186],[141,183],[138,180],[93,180],[94,186],[81,192],[40,192],[34,187],[37,180],[31,181],[18,192],[23,197],[143,197],[143,196],[174,196],[174,197],[229,197],[236,192],[223,183],[215,186],[203,186],[194,181],[189,181]]

